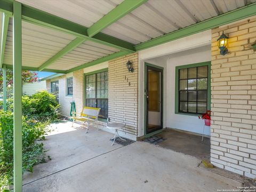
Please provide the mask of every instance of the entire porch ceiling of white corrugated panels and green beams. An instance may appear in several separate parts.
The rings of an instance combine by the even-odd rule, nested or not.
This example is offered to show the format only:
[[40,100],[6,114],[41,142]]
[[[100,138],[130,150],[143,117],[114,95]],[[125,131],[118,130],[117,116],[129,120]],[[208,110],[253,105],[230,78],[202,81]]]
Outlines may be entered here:
[[[12,14],[10,9],[12,0],[3,1],[6,4],[3,9],[0,7],[0,10],[2,9],[5,14]],[[61,73],[82,69],[186,36],[189,34],[188,31],[185,35],[181,32],[181,35],[170,37],[181,29],[186,30],[188,26],[192,27],[222,13],[256,2],[256,0],[138,0],[137,3],[129,0],[17,1],[26,5],[25,11],[22,11],[22,15],[25,14],[22,17],[23,69]],[[27,5],[38,10],[33,10],[34,8]],[[39,10],[44,12],[37,14]],[[57,26],[54,26],[56,23]],[[214,24],[209,24],[208,28]],[[1,25],[4,26],[4,22]],[[202,27],[200,30],[198,28],[200,27],[195,26],[190,34],[205,30],[201,29]],[[159,38],[165,40],[157,41]],[[12,43],[12,19],[10,19],[3,60],[7,68],[12,67]]]

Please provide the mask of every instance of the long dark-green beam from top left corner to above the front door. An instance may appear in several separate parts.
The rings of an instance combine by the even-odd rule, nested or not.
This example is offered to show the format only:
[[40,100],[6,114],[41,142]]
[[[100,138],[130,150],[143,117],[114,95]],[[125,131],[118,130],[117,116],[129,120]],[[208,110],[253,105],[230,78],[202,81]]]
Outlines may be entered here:
[[[0,11],[12,14],[12,2],[12,0],[1,0]],[[127,41],[115,37],[110,38],[108,35],[102,33],[99,33],[100,38],[89,37],[87,36],[86,32],[88,29],[87,27],[68,21],[66,19],[62,19],[50,13],[35,9],[34,7],[30,7],[25,4],[22,4],[22,19],[39,26],[55,29],[61,32],[65,32],[66,34],[81,37],[120,50],[135,52],[134,45]]]

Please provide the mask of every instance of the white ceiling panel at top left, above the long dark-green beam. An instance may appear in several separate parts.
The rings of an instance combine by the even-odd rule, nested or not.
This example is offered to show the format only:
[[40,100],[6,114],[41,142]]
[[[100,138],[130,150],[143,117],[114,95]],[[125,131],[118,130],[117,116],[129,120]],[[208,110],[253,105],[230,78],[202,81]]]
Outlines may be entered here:
[[122,1],[110,0],[17,0],[20,3],[90,27]]

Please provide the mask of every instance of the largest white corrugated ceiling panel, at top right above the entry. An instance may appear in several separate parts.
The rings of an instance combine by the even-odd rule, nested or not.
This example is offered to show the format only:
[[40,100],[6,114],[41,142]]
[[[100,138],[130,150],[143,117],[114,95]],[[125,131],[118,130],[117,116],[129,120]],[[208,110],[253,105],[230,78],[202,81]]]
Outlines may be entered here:
[[139,44],[244,5],[244,0],[148,0],[102,32]]

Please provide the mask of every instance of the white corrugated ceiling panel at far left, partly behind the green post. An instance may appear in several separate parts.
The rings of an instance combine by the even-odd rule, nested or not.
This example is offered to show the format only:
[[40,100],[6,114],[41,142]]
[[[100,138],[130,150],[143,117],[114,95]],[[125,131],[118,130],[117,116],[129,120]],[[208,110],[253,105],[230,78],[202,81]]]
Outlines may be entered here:
[[[12,64],[12,38],[13,26],[10,19],[4,56],[5,64]],[[71,35],[22,21],[22,65],[38,68],[74,39],[75,37]]]

